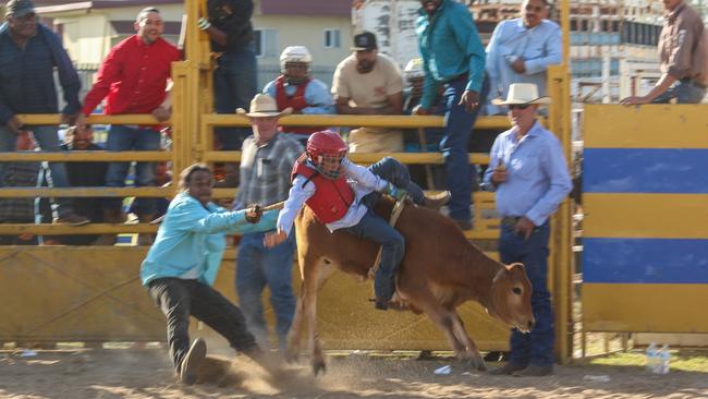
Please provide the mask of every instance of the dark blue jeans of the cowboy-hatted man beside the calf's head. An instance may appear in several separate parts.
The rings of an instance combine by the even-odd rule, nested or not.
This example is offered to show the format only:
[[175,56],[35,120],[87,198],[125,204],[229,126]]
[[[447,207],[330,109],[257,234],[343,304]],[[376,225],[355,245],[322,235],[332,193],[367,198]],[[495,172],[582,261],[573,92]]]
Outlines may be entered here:
[[534,229],[528,240],[515,234],[513,228],[502,226],[499,239],[501,262],[511,264],[521,262],[526,268],[534,293],[532,307],[536,325],[529,334],[514,329],[511,334],[511,363],[526,366],[534,364],[549,366],[553,364],[553,311],[551,294],[548,291],[548,222]]

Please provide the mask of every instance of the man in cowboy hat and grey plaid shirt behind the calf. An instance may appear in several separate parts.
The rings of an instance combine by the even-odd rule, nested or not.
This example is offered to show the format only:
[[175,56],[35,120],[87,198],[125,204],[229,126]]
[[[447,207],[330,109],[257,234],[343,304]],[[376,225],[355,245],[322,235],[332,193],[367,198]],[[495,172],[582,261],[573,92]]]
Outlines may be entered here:
[[[253,135],[243,142],[239,193],[234,209],[245,209],[258,204],[271,205],[288,198],[290,173],[304,147],[290,134],[280,134],[278,120],[292,112],[292,108],[278,110],[276,99],[257,94],[251,110],[240,108],[236,113],[251,119]],[[258,343],[267,348],[267,327],[264,321],[261,294],[270,288],[270,303],[276,313],[276,332],[281,349],[295,313],[295,297],[291,285],[295,240],[266,249],[265,233],[244,234],[236,256],[236,292],[248,327]]]

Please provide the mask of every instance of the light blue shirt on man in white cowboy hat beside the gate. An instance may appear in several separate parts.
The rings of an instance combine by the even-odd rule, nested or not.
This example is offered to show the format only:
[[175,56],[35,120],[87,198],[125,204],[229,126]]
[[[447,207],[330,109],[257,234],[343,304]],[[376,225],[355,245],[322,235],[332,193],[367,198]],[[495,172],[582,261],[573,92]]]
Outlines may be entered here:
[[[521,140],[514,126],[495,140],[485,173],[485,188],[497,192],[501,217],[526,216],[541,226],[571,191],[571,177],[560,141],[540,123]],[[495,185],[491,174],[503,161],[506,181]]]

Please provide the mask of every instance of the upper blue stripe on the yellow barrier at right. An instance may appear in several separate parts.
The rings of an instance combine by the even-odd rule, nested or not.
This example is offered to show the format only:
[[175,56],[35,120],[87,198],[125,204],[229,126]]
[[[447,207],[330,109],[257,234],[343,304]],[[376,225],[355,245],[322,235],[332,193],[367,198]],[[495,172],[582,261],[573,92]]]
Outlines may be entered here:
[[708,148],[585,148],[583,191],[708,194]]

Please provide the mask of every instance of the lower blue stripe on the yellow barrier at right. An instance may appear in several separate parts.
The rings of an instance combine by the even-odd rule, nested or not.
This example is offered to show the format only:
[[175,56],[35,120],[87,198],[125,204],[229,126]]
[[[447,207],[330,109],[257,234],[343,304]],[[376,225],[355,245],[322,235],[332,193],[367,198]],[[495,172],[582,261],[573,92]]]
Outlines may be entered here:
[[708,283],[708,240],[586,238],[583,281]]

